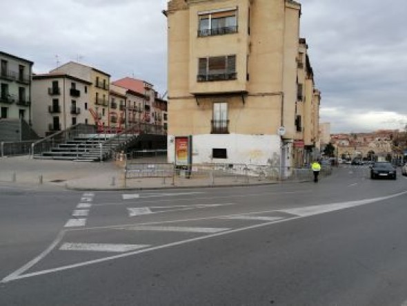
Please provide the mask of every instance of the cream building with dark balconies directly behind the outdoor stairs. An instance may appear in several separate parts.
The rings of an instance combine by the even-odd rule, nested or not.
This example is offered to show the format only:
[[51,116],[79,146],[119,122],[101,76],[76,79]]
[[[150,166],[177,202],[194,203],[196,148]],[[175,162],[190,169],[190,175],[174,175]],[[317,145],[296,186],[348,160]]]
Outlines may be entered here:
[[78,123],[93,124],[88,117],[91,86],[92,82],[65,73],[34,75],[34,130],[44,137]]

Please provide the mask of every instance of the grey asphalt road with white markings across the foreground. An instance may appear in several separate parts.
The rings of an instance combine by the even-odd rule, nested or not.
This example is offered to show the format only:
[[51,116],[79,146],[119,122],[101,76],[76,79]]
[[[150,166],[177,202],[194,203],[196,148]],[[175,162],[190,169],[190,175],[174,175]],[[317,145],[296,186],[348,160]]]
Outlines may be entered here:
[[0,187],[0,305],[407,305],[407,179]]

